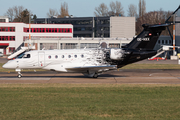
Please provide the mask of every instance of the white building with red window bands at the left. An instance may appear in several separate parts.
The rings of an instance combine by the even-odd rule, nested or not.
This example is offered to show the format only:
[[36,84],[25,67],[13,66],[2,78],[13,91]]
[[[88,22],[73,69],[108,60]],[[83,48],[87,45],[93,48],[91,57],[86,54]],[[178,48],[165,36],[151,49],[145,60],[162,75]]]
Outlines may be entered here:
[[31,24],[29,26],[24,23],[4,22],[2,19],[0,21],[3,21],[0,22],[0,51],[4,55],[11,54],[25,40],[29,40],[29,34],[31,34],[31,39],[73,37],[71,24]]

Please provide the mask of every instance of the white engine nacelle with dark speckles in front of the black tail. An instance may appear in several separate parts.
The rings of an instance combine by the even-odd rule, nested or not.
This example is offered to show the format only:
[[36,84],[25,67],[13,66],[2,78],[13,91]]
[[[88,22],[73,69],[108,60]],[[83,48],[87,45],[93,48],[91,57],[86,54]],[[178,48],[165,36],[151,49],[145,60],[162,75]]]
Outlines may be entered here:
[[124,55],[124,50],[122,49],[111,49],[110,58],[112,60],[121,60]]

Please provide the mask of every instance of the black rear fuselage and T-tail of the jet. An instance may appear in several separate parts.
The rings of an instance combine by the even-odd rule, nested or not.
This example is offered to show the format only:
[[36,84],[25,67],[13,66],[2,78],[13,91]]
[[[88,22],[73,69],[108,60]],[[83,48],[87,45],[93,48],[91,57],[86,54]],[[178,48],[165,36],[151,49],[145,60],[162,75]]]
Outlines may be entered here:
[[170,23],[158,25],[144,24],[144,30],[129,44],[123,47],[125,52],[122,60],[118,61],[117,67],[121,68],[127,64],[141,61],[156,55],[157,51],[153,50],[154,46],[162,31],[170,25]]

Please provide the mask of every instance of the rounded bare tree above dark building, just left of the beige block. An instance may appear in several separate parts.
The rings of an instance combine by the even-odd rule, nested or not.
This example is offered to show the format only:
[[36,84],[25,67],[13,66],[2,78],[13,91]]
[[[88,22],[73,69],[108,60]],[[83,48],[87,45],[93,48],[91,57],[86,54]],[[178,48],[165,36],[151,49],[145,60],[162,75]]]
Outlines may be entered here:
[[99,7],[95,7],[94,14],[95,14],[96,17],[99,17],[99,16],[108,16],[109,15],[108,12],[109,11],[108,11],[107,5],[105,5],[104,3],[101,3],[99,5]]

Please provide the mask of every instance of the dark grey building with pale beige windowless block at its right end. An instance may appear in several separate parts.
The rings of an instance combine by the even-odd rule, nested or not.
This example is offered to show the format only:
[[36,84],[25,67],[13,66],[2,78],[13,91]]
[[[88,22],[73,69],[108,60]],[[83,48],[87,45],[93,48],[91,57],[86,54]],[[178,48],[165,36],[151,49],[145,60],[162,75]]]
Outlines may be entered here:
[[73,37],[133,38],[135,17],[37,18],[35,24],[72,24]]

